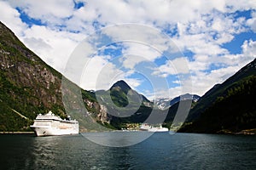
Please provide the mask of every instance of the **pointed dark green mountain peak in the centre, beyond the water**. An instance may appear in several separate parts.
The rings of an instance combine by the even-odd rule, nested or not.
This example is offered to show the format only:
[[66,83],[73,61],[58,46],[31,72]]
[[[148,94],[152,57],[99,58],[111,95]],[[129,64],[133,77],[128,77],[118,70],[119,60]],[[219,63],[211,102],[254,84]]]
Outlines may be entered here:
[[115,82],[107,91],[96,91],[97,99],[106,107],[110,125],[120,129],[123,123],[144,122],[153,104],[138,94],[125,81]]

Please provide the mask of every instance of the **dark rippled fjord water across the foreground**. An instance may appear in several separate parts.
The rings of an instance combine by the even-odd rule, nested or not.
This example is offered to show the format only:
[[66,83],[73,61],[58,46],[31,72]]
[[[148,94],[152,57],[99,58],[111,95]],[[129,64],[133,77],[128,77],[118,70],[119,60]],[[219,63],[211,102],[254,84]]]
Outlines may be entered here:
[[[104,133],[102,138],[113,134]],[[138,144],[108,147],[81,134],[1,134],[0,150],[1,169],[256,168],[256,136],[249,135],[154,133]]]

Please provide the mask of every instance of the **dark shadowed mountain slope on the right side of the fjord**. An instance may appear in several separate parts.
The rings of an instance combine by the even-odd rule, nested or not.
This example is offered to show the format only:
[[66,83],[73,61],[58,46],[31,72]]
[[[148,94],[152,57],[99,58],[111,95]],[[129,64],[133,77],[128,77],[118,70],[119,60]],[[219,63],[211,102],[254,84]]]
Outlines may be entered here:
[[256,59],[203,95],[180,132],[240,133],[256,128],[255,101]]

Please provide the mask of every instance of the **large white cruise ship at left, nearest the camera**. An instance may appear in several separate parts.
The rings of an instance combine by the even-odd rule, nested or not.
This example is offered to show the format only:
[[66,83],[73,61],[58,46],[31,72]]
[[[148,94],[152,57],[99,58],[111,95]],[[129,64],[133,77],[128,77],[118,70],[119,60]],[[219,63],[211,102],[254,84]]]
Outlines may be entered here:
[[37,136],[52,136],[79,133],[79,122],[71,120],[70,116],[67,120],[61,119],[60,116],[55,116],[51,111],[46,115],[39,114],[34,120],[32,126],[33,131]]

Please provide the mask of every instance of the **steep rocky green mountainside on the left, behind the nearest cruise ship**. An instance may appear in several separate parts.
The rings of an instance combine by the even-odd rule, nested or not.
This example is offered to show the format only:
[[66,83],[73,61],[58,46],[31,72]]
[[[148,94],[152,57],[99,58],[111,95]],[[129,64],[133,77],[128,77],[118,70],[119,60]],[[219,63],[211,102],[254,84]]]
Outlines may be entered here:
[[[29,131],[33,119],[39,113],[48,111],[65,118],[67,113],[62,101],[65,94],[61,94],[61,79],[59,72],[26,48],[0,22],[0,132]],[[108,122],[107,113],[97,104],[95,94],[81,90],[73,82],[66,82],[82,92],[82,105],[90,111],[95,121]],[[73,99],[78,98],[72,89],[65,89],[65,93]],[[78,104],[69,103],[72,103],[70,107],[76,109],[74,111],[79,111]],[[84,119],[78,114],[75,116],[81,122],[81,129],[88,130],[89,127],[83,125]]]

